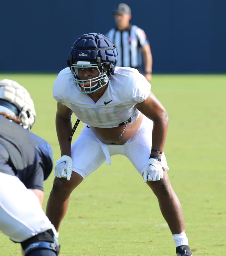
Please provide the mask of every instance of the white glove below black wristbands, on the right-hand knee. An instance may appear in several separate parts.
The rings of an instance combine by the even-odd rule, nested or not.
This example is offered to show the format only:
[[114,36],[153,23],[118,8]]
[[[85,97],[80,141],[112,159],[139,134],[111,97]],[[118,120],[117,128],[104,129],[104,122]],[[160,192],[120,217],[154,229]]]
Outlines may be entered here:
[[162,164],[155,158],[150,158],[146,164],[145,171],[143,172],[143,180],[159,181],[163,177]]

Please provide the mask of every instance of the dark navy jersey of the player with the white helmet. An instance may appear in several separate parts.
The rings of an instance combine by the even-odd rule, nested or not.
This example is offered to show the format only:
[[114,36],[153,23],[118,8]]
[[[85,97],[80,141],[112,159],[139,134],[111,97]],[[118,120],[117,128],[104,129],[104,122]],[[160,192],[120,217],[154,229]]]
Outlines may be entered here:
[[0,172],[17,176],[27,188],[43,190],[52,167],[50,144],[0,115]]

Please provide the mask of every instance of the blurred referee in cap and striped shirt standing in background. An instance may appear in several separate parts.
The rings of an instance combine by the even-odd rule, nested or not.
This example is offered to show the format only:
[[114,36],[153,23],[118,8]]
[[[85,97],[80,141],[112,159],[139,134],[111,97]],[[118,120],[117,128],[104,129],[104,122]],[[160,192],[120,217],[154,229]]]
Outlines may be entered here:
[[[131,25],[131,9],[120,3],[114,11],[116,28],[106,36],[115,44],[118,51],[118,66],[138,69],[150,82],[152,76],[152,54],[145,32],[136,25]],[[141,54],[142,53],[142,54]],[[141,69],[142,55],[145,70]]]

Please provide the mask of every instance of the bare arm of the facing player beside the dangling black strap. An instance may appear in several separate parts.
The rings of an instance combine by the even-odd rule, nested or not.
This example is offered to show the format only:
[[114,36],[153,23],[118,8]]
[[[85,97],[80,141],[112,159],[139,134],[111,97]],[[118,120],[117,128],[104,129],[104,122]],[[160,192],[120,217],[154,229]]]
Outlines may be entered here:
[[72,110],[62,103],[57,103],[56,110],[56,134],[58,137],[61,156],[71,156],[71,141],[68,141],[70,133],[72,131],[71,121]]

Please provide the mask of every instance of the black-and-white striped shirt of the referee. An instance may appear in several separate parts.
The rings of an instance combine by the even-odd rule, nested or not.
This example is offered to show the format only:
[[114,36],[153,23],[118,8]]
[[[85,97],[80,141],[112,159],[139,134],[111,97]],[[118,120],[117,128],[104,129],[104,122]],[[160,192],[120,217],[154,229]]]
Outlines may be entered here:
[[141,48],[149,44],[145,32],[136,25],[131,25],[124,31],[112,28],[108,37],[115,45],[118,56],[118,66],[132,67],[140,70],[142,65]]

